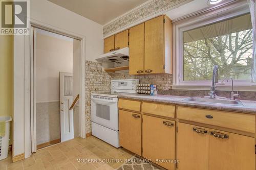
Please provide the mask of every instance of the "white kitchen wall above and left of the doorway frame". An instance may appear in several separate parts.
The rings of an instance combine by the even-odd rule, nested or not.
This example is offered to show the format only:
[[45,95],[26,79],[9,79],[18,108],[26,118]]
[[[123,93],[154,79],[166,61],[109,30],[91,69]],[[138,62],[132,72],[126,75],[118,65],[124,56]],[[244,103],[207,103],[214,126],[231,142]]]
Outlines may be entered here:
[[[30,1],[30,18],[59,30],[67,30],[86,37],[86,60],[95,61],[95,57],[103,53],[102,26],[98,23],[59,7],[47,0]],[[14,36],[14,134],[13,156],[30,150],[30,100],[29,100],[29,63],[28,41],[25,36]],[[25,48],[25,45],[27,45]],[[26,54],[26,55],[25,55]],[[25,62],[26,61],[26,62]],[[26,107],[24,107],[26,106]],[[25,114],[26,113],[26,114]],[[25,129],[26,128],[26,129]],[[29,132],[29,133],[25,133]],[[30,156],[25,154],[25,157]]]

